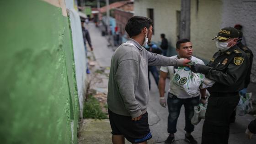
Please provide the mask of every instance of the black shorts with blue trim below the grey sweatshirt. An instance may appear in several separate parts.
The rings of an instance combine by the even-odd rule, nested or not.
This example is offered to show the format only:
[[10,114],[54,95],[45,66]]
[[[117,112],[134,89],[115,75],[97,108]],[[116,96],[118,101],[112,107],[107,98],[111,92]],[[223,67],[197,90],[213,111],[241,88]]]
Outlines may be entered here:
[[131,143],[142,143],[152,138],[148,112],[139,121],[132,121],[132,117],[118,115],[108,109],[109,121],[113,135],[123,135]]

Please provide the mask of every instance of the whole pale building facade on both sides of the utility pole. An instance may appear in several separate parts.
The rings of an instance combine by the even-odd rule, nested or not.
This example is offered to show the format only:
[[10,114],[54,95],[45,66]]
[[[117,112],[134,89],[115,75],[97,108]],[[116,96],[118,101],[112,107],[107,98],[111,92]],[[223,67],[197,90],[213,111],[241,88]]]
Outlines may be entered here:
[[[241,24],[249,47],[256,55],[256,0],[191,0],[190,37],[194,55],[209,61],[217,51],[213,37],[222,27]],[[154,21],[152,41],[160,44],[165,33],[172,51],[179,36],[181,0],[134,0],[134,15]],[[256,57],[254,58],[256,59]],[[251,81],[256,82],[256,61],[252,66]]]

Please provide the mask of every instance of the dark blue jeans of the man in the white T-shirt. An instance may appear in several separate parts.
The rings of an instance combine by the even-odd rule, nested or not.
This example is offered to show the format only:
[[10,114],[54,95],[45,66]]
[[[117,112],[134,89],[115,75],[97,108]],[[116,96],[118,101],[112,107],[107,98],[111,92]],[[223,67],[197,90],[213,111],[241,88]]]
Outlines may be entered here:
[[192,131],[194,131],[194,125],[191,123],[191,119],[194,115],[194,107],[199,104],[199,96],[187,98],[187,99],[180,99],[172,95],[171,93],[168,93],[167,104],[168,104],[168,111],[169,111],[168,128],[167,128],[168,133],[174,134],[177,131],[176,125],[177,125],[178,117],[180,115],[182,104],[185,107],[186,123],[185,123],[184,130],[187,133],[191,133]]

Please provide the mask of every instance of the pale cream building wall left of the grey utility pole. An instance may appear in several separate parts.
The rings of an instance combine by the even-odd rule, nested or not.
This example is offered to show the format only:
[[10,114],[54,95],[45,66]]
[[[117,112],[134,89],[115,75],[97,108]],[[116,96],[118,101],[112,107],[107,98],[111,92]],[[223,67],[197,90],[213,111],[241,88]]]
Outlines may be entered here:
[[152,41],[160,43],[160,34],[175,47],[176,44],[176,11],[181,9],[180,0],[134,0],[134,16],[148,16],[147,9],[154,9],[154,30]]

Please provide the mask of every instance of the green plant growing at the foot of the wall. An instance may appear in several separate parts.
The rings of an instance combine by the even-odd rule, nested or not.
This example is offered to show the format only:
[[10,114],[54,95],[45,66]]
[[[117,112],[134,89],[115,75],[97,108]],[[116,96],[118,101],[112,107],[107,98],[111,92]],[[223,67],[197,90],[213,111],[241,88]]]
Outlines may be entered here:
[[102,112],[100,102],[93,96],[88,96],[84,103],[84,118],[106,119],[107,114]]

